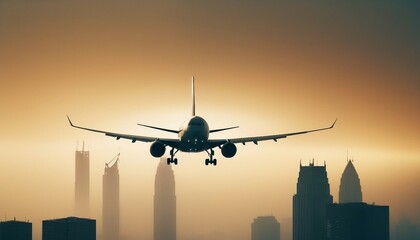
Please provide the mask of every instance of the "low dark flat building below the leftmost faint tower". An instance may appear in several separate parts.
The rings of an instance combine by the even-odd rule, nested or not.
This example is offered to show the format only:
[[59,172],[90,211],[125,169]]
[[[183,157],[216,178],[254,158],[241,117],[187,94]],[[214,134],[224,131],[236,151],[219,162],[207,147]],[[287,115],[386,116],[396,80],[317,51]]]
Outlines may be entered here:
[[42,240],[96,240],[96,220],[77,217],[44,220]]

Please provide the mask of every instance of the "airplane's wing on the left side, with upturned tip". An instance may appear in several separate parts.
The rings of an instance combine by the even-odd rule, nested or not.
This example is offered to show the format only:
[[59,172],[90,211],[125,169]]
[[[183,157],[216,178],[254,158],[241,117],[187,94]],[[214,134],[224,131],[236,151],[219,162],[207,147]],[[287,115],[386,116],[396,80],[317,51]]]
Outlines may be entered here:
[[79,128],[79,129],[87,130],[87,131],[91,131],[91,132],[103,133],[106,136],[115,137],[117,140],[119,140],[120,138],[124,138],[124,139],[131,140],[131,142],[133,142],[133,143],[135,143],[136,141],[140,141],[140,142],[154,142],[156,140],[159,140],[163,144],[166,144],[168,146],[171,146],[171,147],[174,147],[174,148],[178,148],[179,147],[179,142],[180,141],[178,139],[146,137],[146,136],[138,136],[138,135],[129,135],[129,134],[122,134],[122,133],[107,132],[107,131],[97,130],[97,129],[93,129],[93,128],[86,128],[86,127],[81,127],[81,126],[74,125],[72,123],[72,121],[70,120],[69,116],[67,116],[67,120],[69,121],[70,125],[72,127],[74,127],[74,128]]

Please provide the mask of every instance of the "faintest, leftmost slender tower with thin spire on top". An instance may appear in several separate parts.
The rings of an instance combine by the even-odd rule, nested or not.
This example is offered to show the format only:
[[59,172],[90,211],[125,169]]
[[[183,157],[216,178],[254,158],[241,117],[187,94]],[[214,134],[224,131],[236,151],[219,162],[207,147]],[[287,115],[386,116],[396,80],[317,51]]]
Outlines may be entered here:
[[89,151],[76,150],[75,214],[89,217]]

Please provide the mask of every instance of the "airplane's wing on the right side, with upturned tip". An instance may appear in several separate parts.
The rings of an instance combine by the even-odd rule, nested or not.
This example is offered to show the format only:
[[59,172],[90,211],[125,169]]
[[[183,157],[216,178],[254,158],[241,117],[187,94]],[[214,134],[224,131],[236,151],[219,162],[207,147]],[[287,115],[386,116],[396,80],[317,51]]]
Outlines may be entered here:
[[310,132],[317,132],[317,131],[323,131],[323,130],[331,129],[331,128],[334,127],[336,122],[337,122],[337,119],[334,121],[334,123],[330,127],[301,131],[301,132],[292,132],[292,133],[283,133],[283,134],[256,136],[256,137],[231,138],[231,139],[226,139],[226,140],[217,140],[217,139],[209,140],[209,145],[213,146],[213,147],[217,147],[217,146],[223,145],[227,142],[242,143],[244,145],[247,142],[253,142],[254,144],[258,144],[258,142],[266,141],[266,140],[274,140],[275,142],[277,142],[277,139],[286,138],[288,136],[300,135],[300,134],[305,134],[305,133],[310,133]]

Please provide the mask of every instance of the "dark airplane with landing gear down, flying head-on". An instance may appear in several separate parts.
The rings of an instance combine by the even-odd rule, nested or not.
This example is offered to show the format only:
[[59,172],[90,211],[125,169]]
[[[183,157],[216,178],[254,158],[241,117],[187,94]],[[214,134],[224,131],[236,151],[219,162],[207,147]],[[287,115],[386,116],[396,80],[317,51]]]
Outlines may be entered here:
[[81,127],[73,124],[70,120],[70,117],[67,116],[67,120],[70,123],[70,126],[74,128],[79,128],[87,131],[103,133],[109,137],[115,137],[117,140],[120,138],[129,139],[132,143],[136,141],[140,142],[151,142],[150,146],[150,154],[153,157],[160,158],[166,152],[166,147],[170,147],[170,157],[167,158],[167,164],[170,165],[174,163],[175,165],[178,164],[178,159],[175,158],[175,154],[179,151],[181,152],[188,152],[188,153],[199,153],[199,152],[207,152],[209,158],[205,160],[205,165],[212,164],[214,166],[217,165],[217,159],[214,158],[214,148],[218,147],[221,149],[222,155],[225,158],[232,158],[235,156],[237,152],[237,148],[235,144],[253,142],[254,144],[258,144],[260,141],[266,140],[274,140],[277,142],[278,139],[286,138],[288,136],[293,135],[300,135],[310,132],[317,132],[332,129],[337,122],[337,119],[330,127],[326,128],[319,128],[301,132],[292,132],[292,133],[283,133],[283,134],[275,134],[275,135],[265,135],[265,136],[254,136],[254,137],[242,137],[242,138],[229,138],[229,139],[210,139],[209,135],[215,132],[221,132],[225,130],[230,130],[234,128],[238,128],[239,126],[235,127],[228,127],[228,128],[220,128],[220,129],[209,129],[209,125],[207,124],[204,118],[199,117],[195,114],[195,87],[194,87],[194,77],[192,77],[192,113],[191,117],[189,117],[179,128],[179,130],[173,129],[166,129],[161,127],[155,127],[145,124],[137,124],[142,127],[152,128],[155,130],[170,132],[174,134],[178,134],[178,138],[159,138],[159,137],[148,137],[148,136],[138,136],[138,135],[129,135],[129,134],[121,134],[115,132],[108,132],[102,131],[92,128]]

